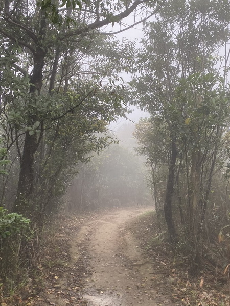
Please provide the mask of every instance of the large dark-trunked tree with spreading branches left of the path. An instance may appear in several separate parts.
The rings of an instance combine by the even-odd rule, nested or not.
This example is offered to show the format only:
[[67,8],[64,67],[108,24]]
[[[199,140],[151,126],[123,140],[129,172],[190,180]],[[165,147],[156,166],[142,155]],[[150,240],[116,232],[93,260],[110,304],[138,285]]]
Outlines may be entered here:
[[[54,128],[59,133],[60,121],[72,114],[77,117],[81,113],[78,109],[91,100],[97,103],[93,108],[98,111],[90,109],[88,115],[94,116],[95,112],[98,119],[104,105],[102,101],[113,106],[115,117],[119,111],[123,112],[124,90],[122,92],[114,83],[113,77],[118,71],[127,69],[132,57],[121,59],[122,49],[117,42],[111,42],[109,47],[113,47],[114,58],[119,61],[114,60],[105,68],[93,59],[98,54],[99,59],[111,58],[108,49],[99,47],[102,43],[109,45],[107,37],[99,35],[99,29],[120,22],[143,6],[145,2],[140,0],[130,4],[72,1],[60,6],[50,1],[38,2],[37,6],[33,2],[27,6],[18,1],[1,3],[0,33],[4,37],[1,59],[5,61],[4,78],[8,83],[1,94],[2,112],[6,118],[3,129],[8,129],[6,135],[10,136],[8,149],[16,144],[16,160],[20,163],[14,211],[25,214],[33,207],[35,156],[38,152],[40,157],[44,155],[48,130]],[[149,15],[154,12],[152,7]],[[112,12],[117,13],[113,15]],[[61,17],[64,18],[61,20]],[[129,43],[125,46],[132,49]],[[110,83],[101,86],[105,77]],[[107,116],[106,120],[114,120],[114,116]],[[6,120],[10,123],[7,129]],[[101,128],[95,127],[90,133],[99,131]]]

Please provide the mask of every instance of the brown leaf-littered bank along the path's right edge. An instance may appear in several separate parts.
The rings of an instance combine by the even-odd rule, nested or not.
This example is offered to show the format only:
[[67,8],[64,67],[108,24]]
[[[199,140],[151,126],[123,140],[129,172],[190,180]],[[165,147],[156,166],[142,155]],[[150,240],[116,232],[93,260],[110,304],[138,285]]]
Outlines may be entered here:
[[[224,274],[224,269],[221,269],[223,263],[220,264],[221,260],[216,256],[215,244],[209,245],[209,248],[206,246],[204,268],[199,277],[192,277],[188,262],[190,246],[185,240],[172,247],[166,223],[163,218],[157,220],[155,211],[140,215],[128,229],[142,242],[144,254],[153,262],[155,271],[164,274],[176,305],[230,305],[228,273]],[[218,247],[220,249],[221,245]]]

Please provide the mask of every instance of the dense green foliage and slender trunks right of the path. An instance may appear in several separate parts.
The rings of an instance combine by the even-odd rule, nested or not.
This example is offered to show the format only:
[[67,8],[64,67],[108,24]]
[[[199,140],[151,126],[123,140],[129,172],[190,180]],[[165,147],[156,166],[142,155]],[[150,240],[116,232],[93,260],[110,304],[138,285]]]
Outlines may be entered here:
[[216,180],[228,185],[229,10],[225,1],[170,1],[146,24],[134,70],[136,101],[151,114],[136,126],[137,150],[151,167],[158,214],[164,210],[170,240],[185,246],[193,273],[212,256],[204,241],[229,222],[228,201],[213,196]]

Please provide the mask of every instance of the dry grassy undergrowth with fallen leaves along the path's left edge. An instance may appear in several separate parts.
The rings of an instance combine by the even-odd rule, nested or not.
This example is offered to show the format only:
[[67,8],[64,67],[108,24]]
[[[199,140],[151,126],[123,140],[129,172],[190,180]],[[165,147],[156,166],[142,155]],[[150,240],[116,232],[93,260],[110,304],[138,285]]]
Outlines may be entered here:
[[[74,217],[56,217],[39,230],[34,226],[30,230],[31,237],[21,240],[20,244],[14,241],[18,248],[17,261],[13,270],[12,267],[2,268],[1,305],[15,305],[15,303],[29,305],[31,298],[43,290],[49,282],[50,271],[67,265],[70,254],[65,232],[70,231],[70,228],[64,227],[65,223],[73,225],[77,222]],[[76,226],[73,225],[74,229],[76,230]],[[5,264],[13,261],[15,254],[8,251],[8,260],[5,260]]]

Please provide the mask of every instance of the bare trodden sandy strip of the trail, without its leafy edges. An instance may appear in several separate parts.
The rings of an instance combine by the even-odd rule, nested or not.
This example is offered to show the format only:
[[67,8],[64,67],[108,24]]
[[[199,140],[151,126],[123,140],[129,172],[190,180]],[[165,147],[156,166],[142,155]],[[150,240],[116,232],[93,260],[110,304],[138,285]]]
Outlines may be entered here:
[[[88,237],[90,277],[83,297],[88,306],[172,305],[153,285],[153,265],[124,226],[150,208],[118,209],[82,227],[76,246]],[[77,259],[72,247],[72,259]]]

